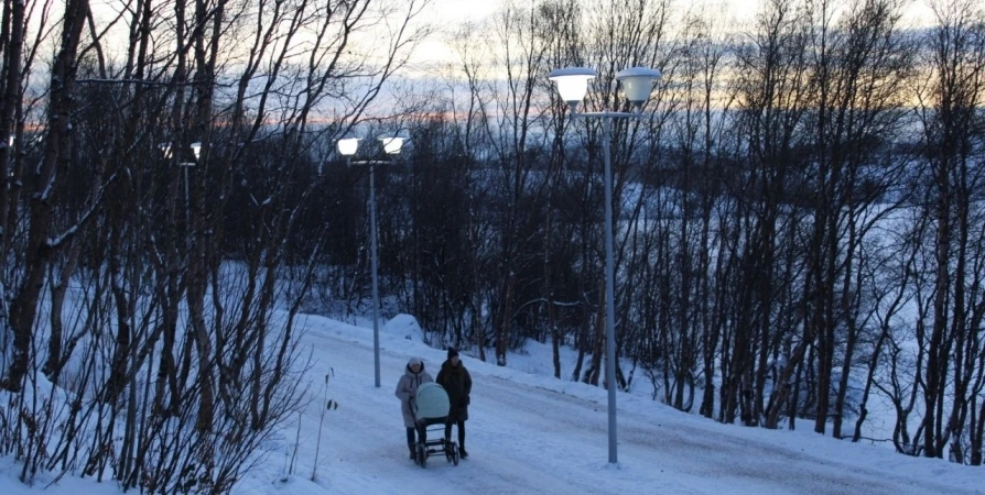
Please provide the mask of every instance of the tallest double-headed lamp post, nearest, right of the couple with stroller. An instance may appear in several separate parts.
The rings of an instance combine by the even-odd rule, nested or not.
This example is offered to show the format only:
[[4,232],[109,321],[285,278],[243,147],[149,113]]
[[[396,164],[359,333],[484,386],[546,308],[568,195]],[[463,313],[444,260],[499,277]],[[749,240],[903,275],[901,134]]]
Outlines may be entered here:
[[611,172],[611,141],[613,120],[639,118],[639,111],[650,99],[653,81],[660,77],[660,70],[632,67],[616,73],[616,80],[623,84],[623,92],[626,99],[636,108],[636,113],[628,112],[583,112],[578,113],[578,103],[588,91],[588,81],[598,73],[586,67],[566,67],[556,69],[548,75],[548,78],[558,85],[558,92],[567,102],[573,117],[598,118],[603,120],[604,136],[602,141],[605,155],[605,381],[608,385],[608,416],[609,416],[609,463],[618,462],[616,442],[616,317],[615,317],[615,282],[613,275],[613,172]]

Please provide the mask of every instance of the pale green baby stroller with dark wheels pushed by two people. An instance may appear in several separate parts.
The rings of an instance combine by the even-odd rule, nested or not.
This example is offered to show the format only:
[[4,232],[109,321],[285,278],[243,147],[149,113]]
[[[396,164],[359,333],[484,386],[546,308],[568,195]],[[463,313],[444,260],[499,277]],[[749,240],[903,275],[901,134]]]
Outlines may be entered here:
[[[448,418],[448,394],[444,387],[434,383],[422,383],[418,387],[411,411],[414,415],[414,424],[418,427],[418,437],[424,439],[418,442],[418,454],[414,463],[421,468],[427,466],[427,458],[431,454],[444,454],[448,462],[458,465],[458,443],[445,440],[445,422]],[[429,427],[439,425],[437,428]],[[427,433],[437,433],[437,440],[427,440]]]

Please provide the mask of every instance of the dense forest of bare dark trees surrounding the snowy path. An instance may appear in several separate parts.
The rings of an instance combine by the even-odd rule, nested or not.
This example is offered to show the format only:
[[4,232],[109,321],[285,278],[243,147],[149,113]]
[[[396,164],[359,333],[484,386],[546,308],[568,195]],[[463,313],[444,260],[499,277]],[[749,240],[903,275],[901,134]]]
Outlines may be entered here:
[[[0,454],[226,493],[309,391],[293,318],[382,316],[725,424],[981,466],[985,8],[765,0],[4,0]],[[440,41],[447,53],[422,63]],[[401,135],[399,155],[377,138]],[[574,369],[560,350],[572,348]],[[646,378],[646,380],[645,380]],[[642,385],[640,385],[642,384]],[[872,437],[869,405],[891,404]]]

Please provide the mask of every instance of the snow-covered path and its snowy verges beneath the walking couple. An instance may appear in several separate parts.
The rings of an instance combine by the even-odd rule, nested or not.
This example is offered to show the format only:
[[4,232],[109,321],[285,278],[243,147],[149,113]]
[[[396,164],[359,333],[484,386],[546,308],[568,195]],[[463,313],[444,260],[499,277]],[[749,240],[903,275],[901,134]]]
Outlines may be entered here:
[[[434,376],[445,351],[422,343],[413,318],[394,318],[381,331],[382,384],[376,388],[370,329],[314,316],[302,317],[301,323],[314,359],[309,376],[315,397],[300,418],[300,433],[294,424],[269,444],[269,457],[236,495],[985,493],[982,468],[909,458],[885,446],[810,431],[721,425],[652,402],[646,392],[618,397],[619,462],[613,465],[606,391],[553,378],[549,349],[537,344],[511,355],[508,367],[463,350],[474,382],[466,424],[469,458],[455,466],[435,457],[421,469],[408,459],[393,392],[411,356],[422,358]],[[338,408],[324,416],[316,462],[327,399]],[[296,438],[294,473],[289,474]],[[0,459],[0,493],[35,494],[52,481],[25,487],[15,481],[19,468]],[[112,483],[69,475],[45,493],[119,492]]]

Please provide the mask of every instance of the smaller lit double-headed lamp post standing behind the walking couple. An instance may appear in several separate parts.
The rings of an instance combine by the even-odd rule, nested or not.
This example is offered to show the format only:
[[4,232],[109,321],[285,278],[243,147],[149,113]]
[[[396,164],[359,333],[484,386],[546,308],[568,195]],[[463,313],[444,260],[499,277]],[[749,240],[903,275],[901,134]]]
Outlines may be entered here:
[[[379,138],[383,145],[383,152],[388,155],[397,155],[403,147],[403,138]],[[370,238],[370,266],[372,271],[372,366],[376,387],[380,387],[380,292],[379,292],[379,257],[377,255],[376,233],[376,167],[390,162],[382,160],[360,160],[353,162],[351,156],[359,150],[359,139],[347,138],[336,143],[338,153],[346,157],[349,165],[369,165],[369,238]]]

